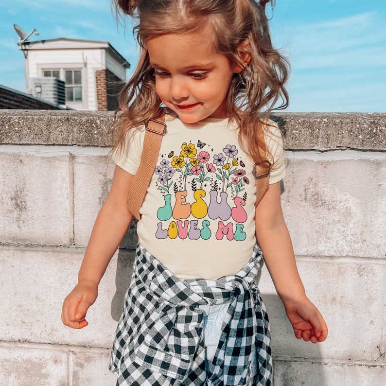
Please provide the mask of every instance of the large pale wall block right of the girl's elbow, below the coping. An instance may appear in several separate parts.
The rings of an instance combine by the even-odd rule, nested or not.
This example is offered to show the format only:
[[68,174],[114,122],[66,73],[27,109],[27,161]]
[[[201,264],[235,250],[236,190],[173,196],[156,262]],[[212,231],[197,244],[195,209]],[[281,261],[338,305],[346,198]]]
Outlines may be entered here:
[[283,212],[295,253],[385,257],[385,161],[289,159]]

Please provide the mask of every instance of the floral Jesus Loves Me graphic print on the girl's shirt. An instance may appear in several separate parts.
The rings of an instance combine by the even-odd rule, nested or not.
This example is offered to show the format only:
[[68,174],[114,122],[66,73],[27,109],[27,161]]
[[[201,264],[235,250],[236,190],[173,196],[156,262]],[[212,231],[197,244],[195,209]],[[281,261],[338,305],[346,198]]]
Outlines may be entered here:
[[170,159],[161,157],[155,169],[156,186],[164,200],[157,210],[158,239],[246,239],[247,194],[243,191],[249,179],[245,164],[236,157],[239,151],[234,144],[220,152],[206,151],[206,145],[198,140],[197,149],[184,142],[179,155],[171,150]]

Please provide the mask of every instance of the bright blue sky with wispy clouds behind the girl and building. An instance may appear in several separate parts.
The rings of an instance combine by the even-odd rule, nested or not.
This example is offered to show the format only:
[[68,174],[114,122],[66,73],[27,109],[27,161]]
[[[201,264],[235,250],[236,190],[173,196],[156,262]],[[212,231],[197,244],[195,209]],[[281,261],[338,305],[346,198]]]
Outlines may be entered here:
[[[269,9],[269,8],[268,8]],[[291,62],[288,111],[386,112],[386,1],[277,0],[271,32]],[[24,91],[24,57],[12,25],[40,35],[107,40],[132,65],[130,23],[117,28],[108,0],[0,4],[0,84]]]

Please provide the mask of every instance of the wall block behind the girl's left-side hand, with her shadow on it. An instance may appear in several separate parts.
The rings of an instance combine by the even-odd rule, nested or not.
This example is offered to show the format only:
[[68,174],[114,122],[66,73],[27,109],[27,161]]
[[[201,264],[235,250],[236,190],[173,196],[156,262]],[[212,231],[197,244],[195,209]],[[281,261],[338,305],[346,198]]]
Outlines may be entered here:
[[112,346],[132,274],[132,257],[114,256],[88,311],[89,325],[73,330],[62,324],[64,298],[77,281],[84,250],[77,248],[0,248],[0,340]]

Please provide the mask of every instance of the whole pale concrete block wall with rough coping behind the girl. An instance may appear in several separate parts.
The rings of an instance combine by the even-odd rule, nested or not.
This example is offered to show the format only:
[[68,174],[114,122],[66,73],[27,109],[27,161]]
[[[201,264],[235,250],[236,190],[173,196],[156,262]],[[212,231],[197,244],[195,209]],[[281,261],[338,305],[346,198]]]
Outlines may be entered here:
[[[308,296],[329,326],[298,341],[263,268],[275,386],[386,384],[386,114],[275,117],[287,131],[282,205]],[[0,385],[108,386],[109,350],[136,245],[130,228],[71,330],[76,282],[114,165],[110,112],[0,111]]]

